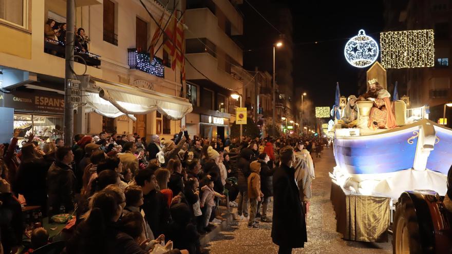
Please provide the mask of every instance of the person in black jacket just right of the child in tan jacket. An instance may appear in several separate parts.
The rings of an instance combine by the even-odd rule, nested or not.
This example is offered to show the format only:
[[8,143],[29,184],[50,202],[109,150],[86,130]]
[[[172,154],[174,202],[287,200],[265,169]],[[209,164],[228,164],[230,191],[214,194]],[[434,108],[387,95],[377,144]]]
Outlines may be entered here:
[[[270,168],[270,166],[273,167],[273,164],[270,162],[269,155],[265,152],[259,154],[258,162],[260,163],[260,191],[263,194],[263,198],[262,201],[257,204],[256,218],[260,217],[261,222],[272,222],[267,217],[267,208],[270,203],[270,197],[273,197],[272,181],[275,169]],[[261,205],[262,213],[259,213]]]

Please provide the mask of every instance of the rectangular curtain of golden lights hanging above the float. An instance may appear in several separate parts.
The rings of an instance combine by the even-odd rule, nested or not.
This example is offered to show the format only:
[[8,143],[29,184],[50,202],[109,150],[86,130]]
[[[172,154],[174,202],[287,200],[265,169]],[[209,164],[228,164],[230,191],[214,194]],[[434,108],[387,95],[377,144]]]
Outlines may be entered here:
[[432,29],[383,32],[381,64],[386,69],[435,66],[434,40]]

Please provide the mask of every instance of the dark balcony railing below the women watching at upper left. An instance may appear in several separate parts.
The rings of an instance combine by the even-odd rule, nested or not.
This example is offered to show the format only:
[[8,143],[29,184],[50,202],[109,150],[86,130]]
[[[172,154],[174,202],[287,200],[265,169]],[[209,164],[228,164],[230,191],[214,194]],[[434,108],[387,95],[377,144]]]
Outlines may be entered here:
[[[65,47],[64,42],[55,41],[50,38],[46,38],[44,41],[44,52],[46,52],[46,53],[64,58],[66,55],[65,50],[66,50],[66,47]],[[88,65],[88,66],[96,66],[96,67],[99,67],[101,65],[101,61],[99,60],[99,58],[101,57],[100,55],[93,54],[91,52],[83,52],[83,51],[81,51],[81,49],[79,47],[74,47],[74,55],[78,55],[78,56],[82,57],[84,60],[84,61],[81,60],[80,57],[74,57],[75,62],[78,62],[81,64],[86,63],[86,65]]]

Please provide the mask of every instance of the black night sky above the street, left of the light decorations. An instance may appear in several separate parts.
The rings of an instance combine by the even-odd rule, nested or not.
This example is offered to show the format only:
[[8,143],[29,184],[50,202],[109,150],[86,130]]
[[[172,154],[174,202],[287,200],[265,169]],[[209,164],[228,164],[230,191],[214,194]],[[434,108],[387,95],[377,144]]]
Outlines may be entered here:
[[[272,1],[248,0],[276,28],[274,15],[278,8],[289,7],[293,17],[293,84],[294,96],[302,91],[313,100],[313,106],[332,106],[336,82],[341,94],[357,95],[357,79],[361,69],[347,63],[344,46],[360,29],[379,43],[383,30],[383,1]],[[272,73],[272,44],[278,32],[246,2],[243,13],[244,67],[254,66]],[[318,42],[315,44],[315,42]],[[248,50],[248,51],[247,51]],[[278,55],[276,57],[284,57]],[[278,80],[278,79],[276,79]]]

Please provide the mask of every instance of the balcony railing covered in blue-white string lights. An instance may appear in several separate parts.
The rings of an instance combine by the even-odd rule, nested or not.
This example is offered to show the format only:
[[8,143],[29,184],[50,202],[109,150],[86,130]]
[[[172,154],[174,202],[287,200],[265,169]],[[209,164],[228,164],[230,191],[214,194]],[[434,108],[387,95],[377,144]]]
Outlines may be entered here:
[[130,69],[137,69],[154,76],[165,77],[165,66],[163,60],[154,56],[150,61],[150,55],[147,52],[138,52],[136,48],[127,49],[128,64]]

